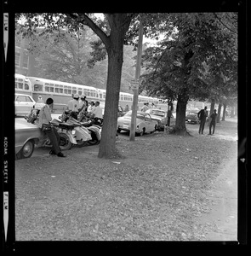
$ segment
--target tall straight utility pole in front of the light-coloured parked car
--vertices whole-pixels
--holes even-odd
[[[135,130],[136,130],[136,116],[138,110],[138,98],[139,98],[139,84],[140,84],[140,63],[141,63],[141,54],[142,54],[142,41],[143,41],[143,24],[142,18],[140,17],[140,28],[139,28],[139,43],[137,50],[137,62],[136,62],[136,73],[135,73],[135,84],[133,87],[134,99],[132,106],[132,117],[131,117],[131,127],[130,127],[130,141],[135,140]]]

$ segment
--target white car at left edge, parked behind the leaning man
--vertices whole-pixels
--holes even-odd
[[[16,116],[25,116],[28,113],[31,113],[31,109],[36,104],[33,98],[26,94],[14,95],[14,108]]]

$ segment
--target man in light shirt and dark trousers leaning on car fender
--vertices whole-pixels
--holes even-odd
[[[54,100],[52,98],[48,98],[46,100],[46,105],[41,108],[39,113],[39,122],[38,126],[42,129],[43,124],[48,125],[49,122],[52,120],[50,109],[53,108]],[[48,131],[44,131],[48,136],[50,142],[52,143],[52,149],[50,150],[49,154],[56,154],[60,157],[65,157],[66,155],[61,152],[60,149],[60,135],[58,131],[51,125],[51,129]]]

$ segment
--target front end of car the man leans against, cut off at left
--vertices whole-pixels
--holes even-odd
[[[15,118],[14,128],[16,159],[31,157],[35,144],[43,138],[43,132],[37,125],[28,123],[24,118]]]

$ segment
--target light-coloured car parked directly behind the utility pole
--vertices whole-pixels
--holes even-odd
[[[132,111],[128,111],[122,117],[117,119],[117,132],[130,131]],[[157,130],[157,121],[151,119],[151,115],[145,112],[137,112],[136,117],[136,134],[143,135],[147,132]]]

